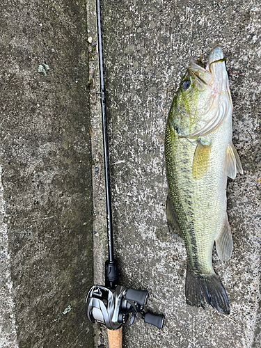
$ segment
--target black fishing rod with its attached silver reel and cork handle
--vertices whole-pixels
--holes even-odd
[[[104,146],[104,178],[106,190],[107,237],[109,259],[105,262],[105,286],[93,285],[86,297],[86,314],[93,323],[99,323],[108,329],[109,347],[122,347],[122,324],[131,315],[133,324],[136,315],[141,316],[148,324],[163,327],[164,315],[144,311],[148,299],[148,291],[126,288],[118,284],[118,262],[113,255],[113,224],[111,213],[111,182],[109,172],[109,147],[106,122],[106,100],[104,87],[104,69],[102,55],[102,25],[100,0],[97,6],[97,35],[100,66],[100,100],[102,106],[102,133]]]

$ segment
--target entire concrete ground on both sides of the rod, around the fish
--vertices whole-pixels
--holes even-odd
[[[84,299],[104,284],[107,257],[95,1],[0,8],[0,347],[93,347]],[[120,281],[148,290],[148,309],[166,316],[161,331],[125,324],[123,347],[260,347],[260,4],[106,0],[102,16]],[[232,259],[214,252],[229,317],[185,303],[161,140],[189,58],[215,45],[231,72],[244,167],[228,183]],[[107,347],[106,331],[95,328],[94,345]]]

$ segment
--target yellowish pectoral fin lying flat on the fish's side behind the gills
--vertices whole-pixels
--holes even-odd
[[[198,145],[194,152],[192,174],[193,177],[200,179],[207,172],[209,167],[210,143],[203,139],[198,139]]]

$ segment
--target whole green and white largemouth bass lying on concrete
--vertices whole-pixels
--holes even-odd
[[[166,217],[187,251],[187,304],[205,309],[209,303],[226,315],[230,304],[212,266],[212,250],[215,243],[221,261],[232,255],[226,187],[228,177],[243,174],[232,143],[232,111],[226,61],[221,47],[215,47],[205,67],[189,60],[173,97],[164,142]]]

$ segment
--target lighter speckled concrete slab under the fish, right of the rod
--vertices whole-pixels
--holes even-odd
[[[123,347],[260,347],[260,3],[106,0],[102,16],[120,280],[148,290],[148,308],[166,316],[161,331],[141,319],[126,324]],[[219,262],[214,252],[229,317],[185,302],[186,253],[166,225],[161,140],[189,58],[216,45],[231,72],[233,142],[244,168],[244,175],[228,182],[232,258]],[[104,235],[95,238],[102,244]],[[102,347],[102,335],[95,347]]]

